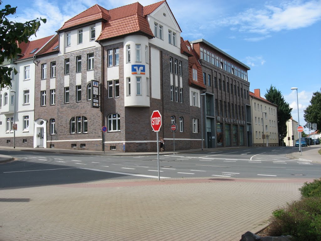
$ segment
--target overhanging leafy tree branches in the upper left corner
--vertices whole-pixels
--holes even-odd
[[[2,1],[0,0],[0,5]],[[12,71],[16,75],[18,72],[13,67],[4,67],[4,61],[11,61],[17,58],[18,54],[21,54],[21,49],[18,48],[17,43],[27,43],[32,35],[36,36],[36,32],[40,27],[40,21],[46,23],[46,19],[37,18],[29,22],[12,22],[7,19],[10,14],[16,13],[17,7],[11,7],[11,5],[5,5],[4,9],[0,10],[0,49],[2,50],[0,55],[0,89],[5,86],[11,86],[12,77],[10,76]]]

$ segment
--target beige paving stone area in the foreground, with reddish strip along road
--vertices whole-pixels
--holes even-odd
[[[312,179],[104,180],[0,189],[1,241],[239,241]]]

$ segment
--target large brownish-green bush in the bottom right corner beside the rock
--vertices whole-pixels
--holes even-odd
[[[321,241],[321,198],[310,197],[274,210],[270,236],[291,235],[296,240]]]

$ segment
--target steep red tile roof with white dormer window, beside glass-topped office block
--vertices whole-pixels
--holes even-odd
[[[188,83],[189,83],[189,85],[195,85],[197,87],[201,87],[202,89],[206,89],[206,86],[204,85],[204,82],[203,82],[202,66],[197,60],[197,57],[196,57],[197,54],[196,54],[195,50],[192,49],[192,46],[188,40],[186,40],[184,42],[185,42],[185,46],[186,45],[189,46],[190,50],[188,50],[188,48],[186,47],[187,51],[189,51],[191,53],[191,57],[188,58],[188,73],[189,73]],[[192,69],[197,70],[197,81],[193,80],[193,70]]]

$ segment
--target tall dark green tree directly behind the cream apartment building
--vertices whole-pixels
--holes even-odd
[[[289,103],[285,102],[281,91],[277,90],[271,85],[270,89],[266,89],[265,99],[278,106],[278,130],[280,140],[287,136],[287,121],[291,118],[291,111]]]

